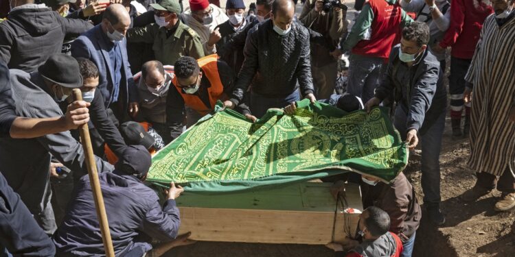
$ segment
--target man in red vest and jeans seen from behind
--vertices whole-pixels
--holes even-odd
[[[391,47],[400,39],[400,27],[411,21],[396,0],[371,0],[363,6],[349,36],[342,38],[334,56],[351,51],[347,92],[364,102],[374,97],[374,89],[384,73]]]

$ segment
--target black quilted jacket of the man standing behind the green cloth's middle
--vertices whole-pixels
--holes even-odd
[[[271,20],[251,29],[231,101],[242,101],[251,83],[253,92],[268,97],[286,97],[299,86],[303,96],[313,93],[310,32],[297,22],[291,26],[285,36],[279,36],[273,30]]]

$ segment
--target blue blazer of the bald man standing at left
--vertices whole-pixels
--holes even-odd
[[[115,42],[115,44],[119,44],[122,50],[122,79],[119,82],[119,100],[124,99],[125,101],[120,103],[124,104],[124,107],[126,107],[128,102],[138,101],[137,87],[133,80],[133,73],[130,72],[126,39],[124,38],[120,42]],[[111,49],[111,46],[109,46],[109,42],[107,42],[100,24],[80,35],[71,44],[71,55],[73,57],[87,58],[97,66],[98,72],[100,73],[98,88],[104,97],[106,108],[111,104],[111,94],[114,90],[113,86],[111,86],[111,90],[109,90],[108,85],[115,84],[113,76],[111,75],[114,66],[111,64],[111,59],[109,58],[109,49]]]

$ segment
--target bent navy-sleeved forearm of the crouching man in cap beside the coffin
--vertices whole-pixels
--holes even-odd
[[[181,225],[179,208],[176,207],[175,200],[166,200],[162,209],[158,201],[152,203],[141,230],[159,241],[172,241],[176,238]]]

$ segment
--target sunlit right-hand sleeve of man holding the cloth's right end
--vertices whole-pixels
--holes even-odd
[[[433,96],[436,92],[438,73],[439,66],[431,67],[418,77],[417,82],[415,82],[411,91],[411,101],[406,125],[407,131],[418,131],[420,127],[422,127],[424,117],[429,107],[431,107],[431,101],[433,101]]]

